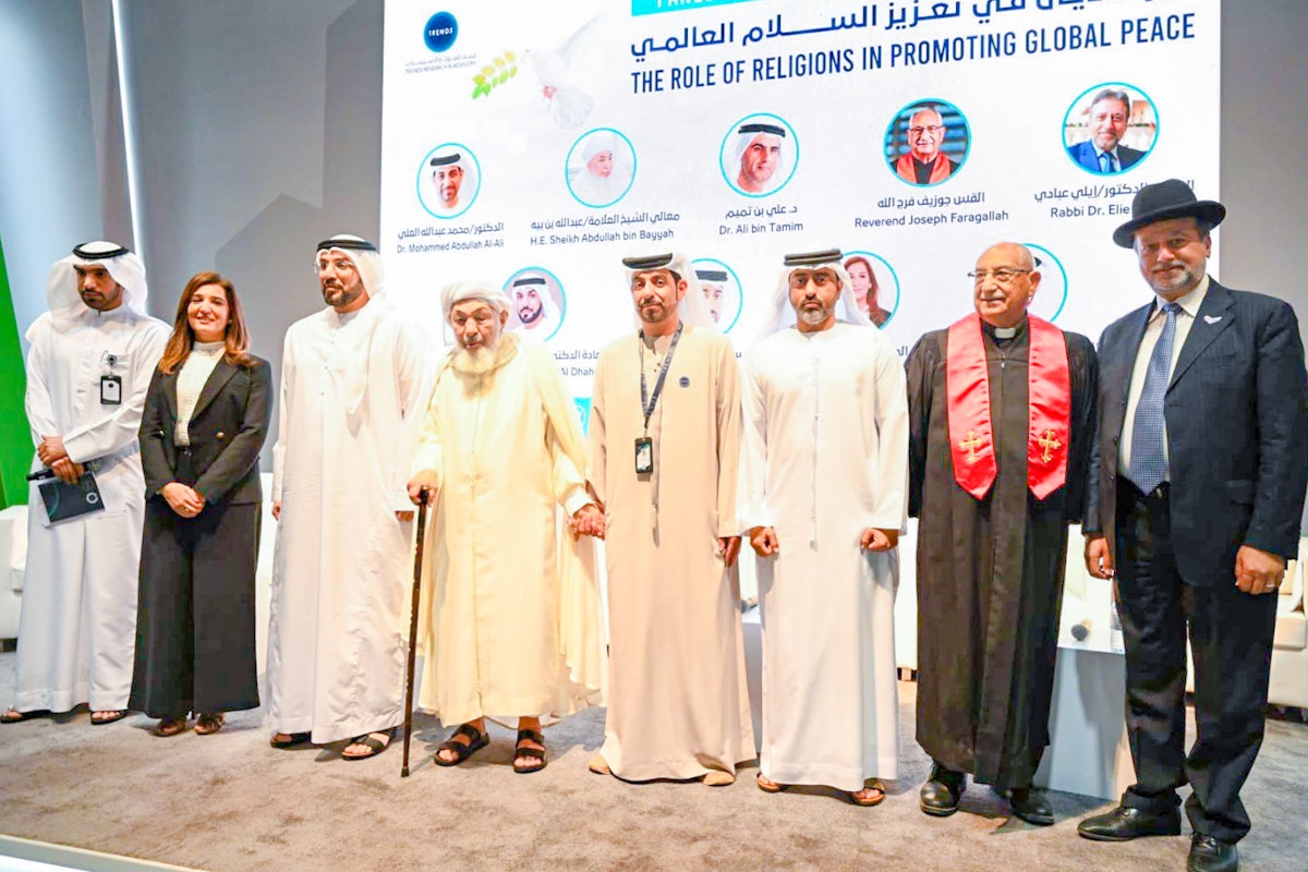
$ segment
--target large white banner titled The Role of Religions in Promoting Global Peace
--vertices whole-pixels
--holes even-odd
[[[1148,297],[1109,238],[1134,192],[1216,196],[1219,25],[1219,0],[387,0],[387,285],[433,336],[446,282],[505,286],[583,417],[634,328],[624,255],[696,260],[743,352],[781,256],[840,247],[904,356],[1012,239],[1033,311],[1097,339]]]

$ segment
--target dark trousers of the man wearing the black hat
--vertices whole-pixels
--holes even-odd
[[[1117,590],[1126,646],[1126,729],[1137,782],[1122,804],[1185,812],[1196,833],[1237,842],[1249,831],[1240,788],[1262,745],[1277,597],[1230,584],[1194,587],[1176,567],[1167,485],[1117,486]],[[1239,543],[1232,544],[1232,550]],[[1198,739],[1185,753],[1185,637],[1194,654]]]

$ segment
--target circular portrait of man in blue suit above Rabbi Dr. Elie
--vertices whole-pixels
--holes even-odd
[[[1071,162],[1096,175],[1125,173],[1154,150],[1158,111],[1148,94],[1108,82],[1087,88],[1063,118],[1063,148]]]

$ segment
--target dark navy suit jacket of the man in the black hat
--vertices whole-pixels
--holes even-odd
[[[1114,563],[1117,446],[1150,299],[1099,340],[1099,463],[1086,532]],[[1296,556],[1308,489],[1308,377],[1294,310],[1215,280],[1163,400],[1172,540],[1181,578],[1228,584],[1240,545]]]

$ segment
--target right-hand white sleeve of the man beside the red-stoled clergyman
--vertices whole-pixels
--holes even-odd
[[[908,529],[908,386],[891,344],[876,344],[876,505],[869,527]]]

